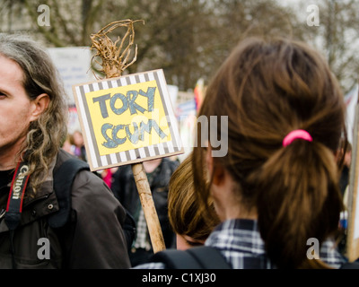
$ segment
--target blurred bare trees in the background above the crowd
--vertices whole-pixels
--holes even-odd
[[[91,46],[90,36],[109,22],[136,23],[137,60],[127,73],[162,68],[168,83],[181,91],[207,81],[241,39],[280,35],[303,39],[322,51],[348,91],[357,79],[354,39],[359,0],[318,0],[320,26],[308,26],[306,6],[300,11],[275,0],[43,0],[50,9],[50,26],[39,26],[37,0],[0,0],[4,31],[19,25],[49,47]],[[311,2],[311,1],[310,1]],[[302,11],[302,13],[300,13]],[[299,12],[299,13],[298,13]],[[5,29],[4,29],[5,28]],[[122,37],[116,30],[112,37]]]

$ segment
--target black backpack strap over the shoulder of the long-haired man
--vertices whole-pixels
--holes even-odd
[[[90,170],[88,163],[71,158],[54,172],[54,190],[59,210],[48,218],[48,224],[52,228],[62,227],[68,221],[71,213],[71,188],[74,177],[81,170]]]

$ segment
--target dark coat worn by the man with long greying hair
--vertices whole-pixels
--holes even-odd
[[[58,229],[48,226],[48,216],[58,210],[52,170],[56,172],[57,167],[71,156],[61,150],[51,175],[36,196],[24,198],[22,221],[13,237],[16,267],[129,268],[126,239],[121,227],[125,210],[103,180],[91,171],[83,170],[74,178],[70,221]],[[0,204],[7,201],[6,188],[9,189],[0,187]],[[39,239],[49,240],[49,259],[39,259],[38,251],[42,247]],[[12,268],[10,250],[9,230],[0,219],[0,268]]]

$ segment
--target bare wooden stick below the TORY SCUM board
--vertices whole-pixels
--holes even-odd
[[[154,207],[151,188],[147,180],[147,175],[144,171],[144,164],[142,162],[132,164],[132,172],[135,177],[138,195],[140,196],[142,208],[144,210],[144,218],[147,222],[148,231],[150,233],[153,252],[156,253],[158,251],[162,251],[166,247],[164,245],[161,224]]]

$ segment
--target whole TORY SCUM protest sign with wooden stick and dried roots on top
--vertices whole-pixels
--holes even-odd
[[[136,22],[144,21],[127,19],[110,22],[97,33],[91,35],[92,49],[96,51],[92,60],[101,65],[99,73],[105,74],[106,78],[111,80],[74,86],[74,94],[78,96],[75,96],[76,103],[81,107],[85,145],[88,149],[86,152],[92,170],[132,163],[131,169],[155,253],[166,247],[142,161],[177,154],[180,152],[180,138],[176,133],[176,120],[173,117],[163,71],[156,70],[121,77],[127,67],[136,62],[137,45],[134,47],[134,23]],[[113,41],[109,38],[109,34],[118,28],[124,28],[126,33],[122,38],[118,36]],[[135,48],[134,54],[131,53],[131,48]],[[96,57],[99,57],[101,62],[97,61]],[[152,83],[146,85],[148,82]],[[97,93],[96,91],[99,90],[101,92]],[[103,93],[102,90],[111,91]],[[92,94],[86,97],[90,93]],[[137,97],[140,99],[144,97],[142,99],[144,102],[137,102]],[[92,106],[92,103],[98,104],[98,107]],[[141,114],[144,116],[141,122],[136,122],[139,120],[136,117],[138,111],[140,113],[138,116]],[[118,118],[118,116],[121,117]],[[156,119],[157,122],[155,122]],[[94,124],[97,123],[97,120],[100,121],[101,134],[98,130],[95,133],[94,130],[96,128]],[[133,130],[131,130],[131,126]],[[153,128],[157,133],[154,135],[154,139],[152,139]],[[124,129],[126,135],[123,134]],[[118,133],[122,133],[122,135],[118,135]],[[146,137],[145,133],[149,135]],[[127,140],[132,143],[132,147],[131,143],[127,147],[123,146]],[[135,146],[139,141],[142,143]],[[100,149],[99,144],[102,144],[105,149],[102,147]],[[127,150],[128,147],[129,150]],[[117,150],[109,152],[110,149]]]

